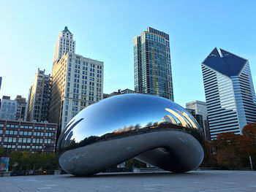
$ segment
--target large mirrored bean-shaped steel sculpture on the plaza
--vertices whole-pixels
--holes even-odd
[[[196,120],[159,96],[126,94],[78,113],[61,131],[59,164],[77,176],[102,172],[136,158],[170,172],[188,172],[203,161]]]

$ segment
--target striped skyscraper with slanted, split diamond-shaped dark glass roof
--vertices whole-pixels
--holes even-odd
[[[256,121],[256,97],[249,61],[214,48],[202,63],[211,139],[232,131],[242,134]]]

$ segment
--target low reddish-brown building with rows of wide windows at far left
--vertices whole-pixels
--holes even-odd
[[[55,152],[57,124],[0,120],[0,147],[8,150]]]

